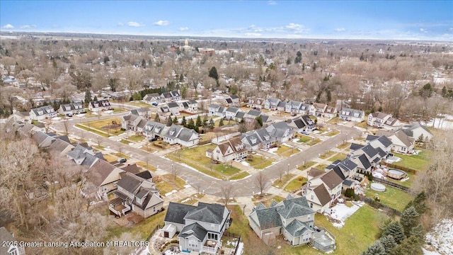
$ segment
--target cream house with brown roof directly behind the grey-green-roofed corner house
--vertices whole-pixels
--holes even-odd
[[[306,183],[306,200],[311,209],[323,213],[340,197],[343,179],[335,171],[309,179]]]

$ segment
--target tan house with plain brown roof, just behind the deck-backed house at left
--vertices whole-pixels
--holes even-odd
[[[120,174],[124,170],[119,169],[105,160],[98,160],[86,172],[86,179],[96,187],[98,197],[103,193],[108,193],[117,188],[117,182],[120,181]]]

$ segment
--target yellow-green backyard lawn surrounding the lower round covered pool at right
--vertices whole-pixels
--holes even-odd
[[[413,199],[413,195],[406,193],[397,188],[386,186],[386,191],[377,192],[371,188],[367,189],[365,196],[367,198],[374,198],[375,194],[379,196],[381,203],[396,210],[402,211],[404,207]]]

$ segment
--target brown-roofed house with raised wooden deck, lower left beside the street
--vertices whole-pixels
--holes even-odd
[[[144,171],[145,173],[149,171]],[[164,208],[164,200],[156,189],[156,184],[142,178],[139,174],[125,172],[117,182],[115,198],[110,200],[108,208],[115,215],[122,216],[129,210],[142,217],[150,217]]]

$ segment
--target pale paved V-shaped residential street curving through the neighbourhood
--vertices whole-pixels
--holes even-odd
[[[105,118],[120,117],[125,114],[127,113],[103,115],[100,118],[95,117],[90,118],[89,120],[91,121],[96,121],[98,119],[103,120]],[[248,176],[248,178],[238,181],[223,181],[219,179],[214,179],[211,176],[202,174],[199,171],[196,171],[195,169],[191,169],[190,167],[172,162],[171,160],[161,157],[157,154],[145,152],[142,149],[130,147],[122,144],[121,142],[117,142],[117,140],[119,140],[118,137],[98,138],[98,135],[74,127],[76,123],[79,122],[84,123],[86,121],[88,121],[88,119],[68,120],[70,126],[68,130],[69,134],[74,133],[74,135],[76,136],[84,137],[85,140],[91,139],[93,142],[95,141],[97,142],[98,139],[100,139],[101,145],[103,147],[110,148],[115,151],[120,151],[127,155],[132,154],[132,158],[139,159],[142,162],[149,162],[150,164],[157,166],[157,168],[160,170],[168,171],[168,173],[171,173],[171,167],[173,164],[173,167],[175,167],[176,170],[178,171],[178,176],[180,176],[180,178],[184,179],[187,183],[189,183],[190,186],[193,186],[195,190],[200,190],[204,191],[207,194],[215,195],[219,193],[220,187],[226,185],[227,183],[233,183],[236,196],[252,196],[253,193],[259,192],[259,189],[256,187],[256,184],[254,183],[254,180],[256,179],[255,176],[258,174],[258,171],[253,175]],[[336,126],[328,124],[324,125],[327,128],[335,127],[335,129],[340,130],[340,134],[334,137],[330,137],[328,138],[328,140],[320,142],[319,144],[314,145],[302,152],[293,154],[292,157],[283,159],[282,161],[277,162],[272,166],[269,166],[267,169],[263,169],[262,170],[263,174],[265,174],[265,176],[268,176],[269,180],[276,179],[277,176],[279,175],[277,169],[284,168],[285,171],[287,171],[287,169],[294,169],[297,166],[302,165],[303,162],[309,162],[312,159],[316,159],[317,157],[319,157],[319,154],[322,154],[323,152],[326,152],[329,149],[333,149],[334,147],[336,147],[336,145],[340,145],[341,143],[343,143],[344,140],[350,140],[352,137],[358,137],[361,134],[361,132],[356,128],[350,128],[341,125]],[[64,132],[63,122],[52,125],[52,128],[58,130],[59,132]],[[270,182],[267,183],[267,188],[269,186]]]

